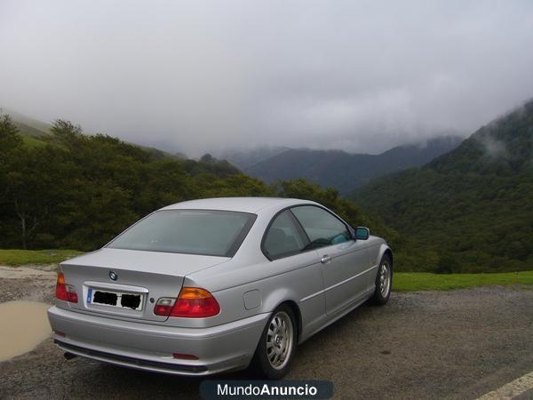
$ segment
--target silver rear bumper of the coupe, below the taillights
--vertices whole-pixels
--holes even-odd
[[[209,375],[250,364],[269,314],[211,328],[178,328],[92,316],[52,307],[48,319],[64,351],[152,372]],[[65,334],[65,336],[62,336]],[[197,356],[176,359],[173,353]]]

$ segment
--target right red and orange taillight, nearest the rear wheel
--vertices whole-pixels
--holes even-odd
[[[219,303],[205,289],[184,287],[178,299],[163,297],[155,303],[156,316],[179,316],[182,318],[205,318],[220,312]]]

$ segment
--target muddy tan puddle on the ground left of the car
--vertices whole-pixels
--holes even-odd
[[[0,303],[0,361],[27,353],[50,336],[48,308],[36,301]]]

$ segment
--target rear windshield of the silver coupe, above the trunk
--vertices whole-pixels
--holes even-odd
[[[107,247],[233,257],[255,219],[247,212],[163,210],[140,220]]]

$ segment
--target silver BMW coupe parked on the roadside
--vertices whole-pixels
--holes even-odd
[[[298,343],[361,305],[385,304],[393,253],[311,201],[228,197],[172,204],[60,264],[53,339],[153,372],[290,369]]]

